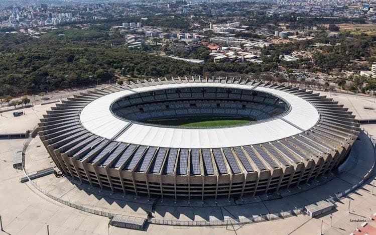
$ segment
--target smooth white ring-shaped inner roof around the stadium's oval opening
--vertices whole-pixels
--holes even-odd
[[[80,114],[81,124],[91,133],[120,142],[137,145],[167,148],[225,148],[254,145],[287,138],[311,129],[319,120],[319,113],[308,101],[277,89],[256,87],[279,96],[290,104],[291,110],[281,118],[250,124],[247,126],[191,129],[165,126],[152,126],[130,123],[114,116],[110,111],[112,102],[122,96],[165,88],[182,87],[232,87],[252,89],[252,85],[222,83],[181,83],[163,84],[113,92],[95,99],[83,108]],[[128,128],[121,135],[124,128]]]

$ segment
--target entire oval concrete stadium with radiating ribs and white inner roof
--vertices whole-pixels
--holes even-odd
[[[39,136],[62,174],[147,197],[278,193],[335,171],[354,115],[298,87],[172,78],[92,89],[47,111]]]

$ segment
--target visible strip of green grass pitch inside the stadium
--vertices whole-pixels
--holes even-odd
[[[188,127],[188,128],[211,128],[211,127],[228,127],[241,124],[248,124],[255,122],[254,120],[245,118],[185,118],[178,120],[152,120],[148,123],[158,124],[158,125],[168,125],[168,126],[178,126],[178,127]]]

